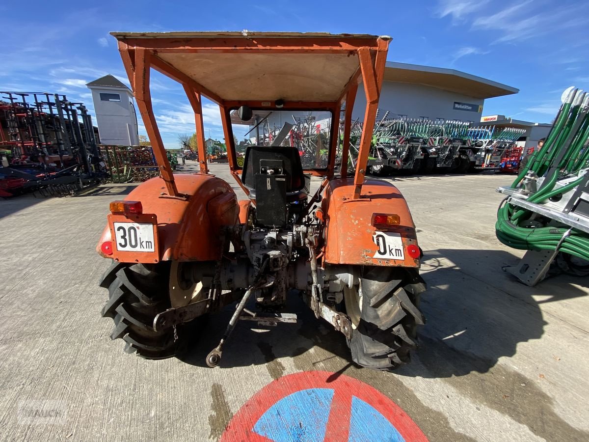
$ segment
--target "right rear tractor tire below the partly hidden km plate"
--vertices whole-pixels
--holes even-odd
[[[419,311],[424,291],[425,282],[414,269],[363,268],[359,286],[343,293],[352,320],[353,361],[385,371],[409,362],[409,351],[418,347],[417,326],[425,323]]]

